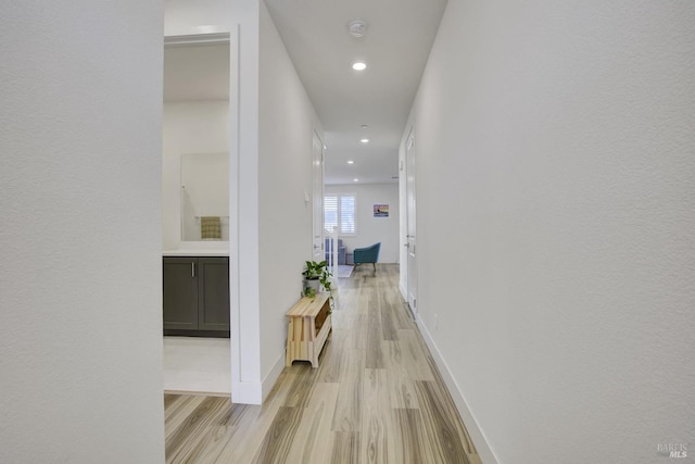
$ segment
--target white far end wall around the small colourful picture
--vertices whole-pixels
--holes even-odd
[[[368,247],[380,241],[379,262],[399,262],[401,205],[397,184],[328,185],[325,192],[355,193],[357,233],[354,236],[340,236],[348,253],[352,253],[355,248]],[[374,217],[375,204],[388,204],[389,217]]]

